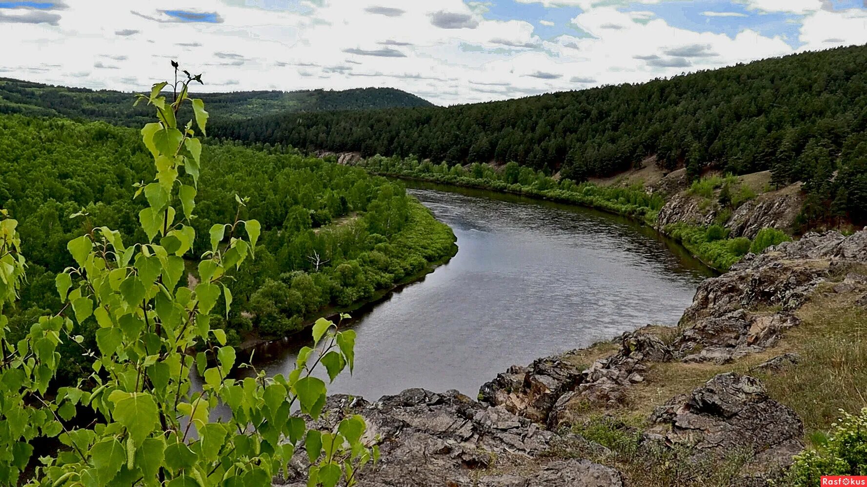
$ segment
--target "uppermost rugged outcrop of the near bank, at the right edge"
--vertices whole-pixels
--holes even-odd
[[[707,279],[681,318],[676,355],[688,362],[726,363],[772,347],[780,332],[799,324],[793,312],[816,287],[852,266],[867,264],[867,232],[807,234],[744,260]],[[867,284],[848,272],[838,292]],[[867,286],[865,286],[867,288]]]

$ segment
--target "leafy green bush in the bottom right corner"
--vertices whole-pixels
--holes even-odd
[[[867,407],[843,412],[825,441],[796,456],[785,485],[818,487],[823,475],[867,475]]]

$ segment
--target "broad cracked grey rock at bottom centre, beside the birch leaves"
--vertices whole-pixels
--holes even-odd
[[[380,463],[363,469],[361,487],[622,487],[620,473],[583,459],[544,455],[555,433],[504,407],[487,407],[458,393],[407,389],[375,403],[346,395],[329,397],[326,413],[313,422],[335,427],[348,414],[361,414],[380,437]],[[306,455],[293,459],[285,485],[306,485]]]

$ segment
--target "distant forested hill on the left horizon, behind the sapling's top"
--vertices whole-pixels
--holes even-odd
[[[171,93],[168,93],[171,97]],[[285,112],[367,110],[433,106],[412,93],[394,88],[355,88],[343,91],[254,91],[197,93],[218,119],[248,119]],[[42,85],[0,78],[0,113],[100,120],[114,125],[140,126],[150,121],[150,110],[131,108],[133,94]]]

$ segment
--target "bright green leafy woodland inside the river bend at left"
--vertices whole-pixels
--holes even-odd
[[[451,229],[400,184],[362,169],[234,143],[205,145],[201,157],[192,253],[208,247],[214,222],[261,223],[256,259],[228,281],[232,311],[214,317],[232,343],[286,336],[329,305],[368,300],[455,252]],[[152,164],[139,131],[0,115],[0,208],[19,221],[29,263],[12,330],[60,309],[54,276],[74,265],[76,235],[106,225],[145,240],[139,214],[151,195],[137,192]]]

